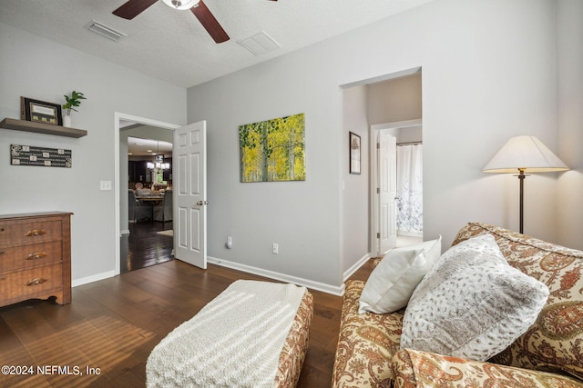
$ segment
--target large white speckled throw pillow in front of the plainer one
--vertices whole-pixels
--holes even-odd
[[[537,319],[548,288],[506,263],[491,234],[441,256],[415,289],[401,348],[486,361]]]

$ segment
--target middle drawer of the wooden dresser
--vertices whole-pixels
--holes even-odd
[[[63,260],[62,250],[63,244],[60,241],[0,247],[0,273],[38,265],[61,263]]]

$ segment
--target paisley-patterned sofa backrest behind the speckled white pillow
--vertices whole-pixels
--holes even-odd
[[[482,223],[466,224],[452,245],[481,234],[493,235],[508,264],[547,284],[550,291],[537,322],[488,361],[560,369],[583,381],[583,251]]]

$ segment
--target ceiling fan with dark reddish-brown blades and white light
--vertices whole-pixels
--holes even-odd
[[[113,15],[131,20],[142,12],[146,11],[150,5],[154,5],[158,0],[129,0],[113,12]],[[200,24],[207,30],[210,37],[216,43],[228,41],[229,35],[222,29],[219,22],[210,13],[209,8],[202,0],[162,0],[172,8],[184,10],[189,9],[199,19]],[[277,0],[271,0],[277,1]]]

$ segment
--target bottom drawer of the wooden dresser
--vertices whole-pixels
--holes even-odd
[[[27,299],[63,287],[63,265],[53,264],[20,272],[0,274],[0,295],[6,300],[16,296]]]

